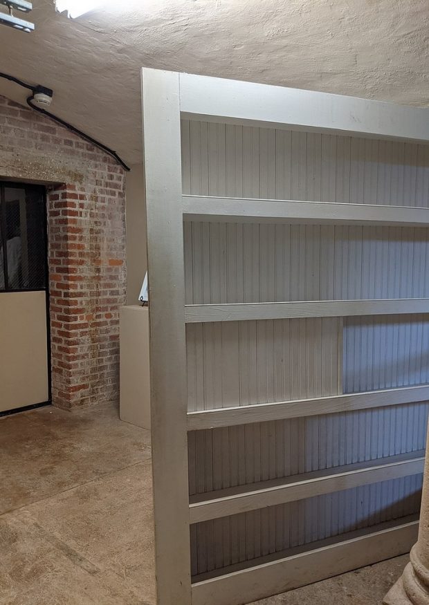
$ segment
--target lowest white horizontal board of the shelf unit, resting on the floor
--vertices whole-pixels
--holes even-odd
[[[293,548],[284,557],[277,553],[230,566],[223,575],[199,575],[192,579],[192,605],[244,605],[403,555],[417,541],[418,529],[417,516],[408,516]]]

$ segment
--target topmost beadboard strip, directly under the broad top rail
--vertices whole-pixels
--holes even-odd
[[[429,207],[429,146],[182,121],[183,193]]]

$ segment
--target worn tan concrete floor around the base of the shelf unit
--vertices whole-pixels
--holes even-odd
[[[0,605],[155,603],[148,431],[46,407],[1,418],[0,452]],[[407,561],[254,605],[378,605]]]

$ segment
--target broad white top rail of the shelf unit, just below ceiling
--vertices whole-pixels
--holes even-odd
[[[190,119],[429,140],[426,108],[188,73],[180,75],[180,99]]]

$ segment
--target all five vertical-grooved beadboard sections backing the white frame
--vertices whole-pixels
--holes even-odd
[[[429,207],[429,147],[182,122],[183,193]],[[185,223],[188,304],[429,297],[429,230]],[[192,411],[428,382],[424,316],[188,324]],[[190,494],[412,452],[429,404],[189,434]],[[194,575],[419,510],[421,477],[192,525]],[[309,547],[310,548],[310,547]]]

